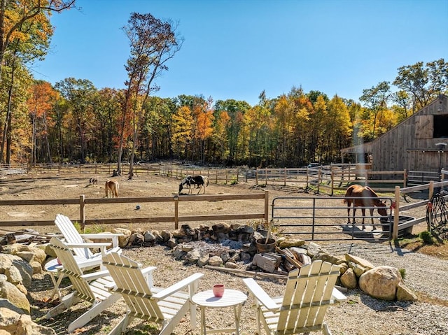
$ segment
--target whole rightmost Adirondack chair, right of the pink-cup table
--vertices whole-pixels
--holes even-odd
[[[260,324],[266,334],[300,334],[321,330],[331,335],[323,317],[328,306],[344,301],[344,294],[335,289],[339,266],[315,261],[288,274],[283,296],[271,298],[253,280],[244,278],[248,291],[255,297],[258,334]]]

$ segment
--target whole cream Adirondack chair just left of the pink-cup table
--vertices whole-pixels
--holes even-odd
[[[120,293],[127,304],[125,318],[109,335],[124,332],[134,318],[162,324],[160,335],[169,335],[174,332],[174,327],[188,310],[191,325],[195,329],[196,308],[191,302],[191,297],[197,291],[203,273],[195,273],[162,289],[153,286],[152,272],[155,266],[142,269],[139,263],[116,252],[103,257],[103,264],[115,282],[115,285],[109,286],[111,292]]]

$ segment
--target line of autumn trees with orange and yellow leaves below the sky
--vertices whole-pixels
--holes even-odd
[[[51,85],[29,70],[45,57],[55,11],[75,1],[0,0],[0,159],[2,163],[182,159],[200,164],[290,167],[340,162],[342,148],[384,134],[447,94],[444,59],[402,66],[392,85],[363,90],[360,103],[292,87],[258,104],[179,95],[157,97],[158,76],[181,49],[177,23],[132,13],[124,89],[88,79]]]

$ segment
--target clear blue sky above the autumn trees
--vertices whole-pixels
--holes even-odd
[[[258,103],[292,87],[358,101],[400,66],[448,60],[448,0],[77,0],[55,27],[36,79],[88,79],[123,88],[132,12],[179,22],[181,50],[157,80],[159,97]]]

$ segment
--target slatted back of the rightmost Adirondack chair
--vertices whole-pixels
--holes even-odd
[[[279,334],[320,327],[337,276],[339,266],[322,261],[290,271],[277,324]]]

